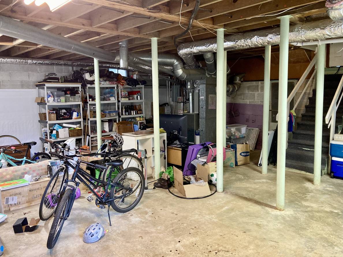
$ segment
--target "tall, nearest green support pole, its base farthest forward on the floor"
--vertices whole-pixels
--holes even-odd
[[[289,15],[280,17],[279,120],[277,122],[276,208],[285,209]]]

